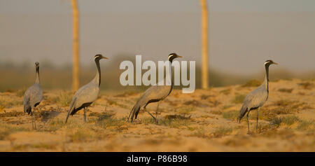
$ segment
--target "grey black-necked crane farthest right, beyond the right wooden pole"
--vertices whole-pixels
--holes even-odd
[[[258,112],[260,107],[265,104],[265,102],[268,99],[269,95],[269,66],[270,64],[277,64],[276,62],[272,62],[272,60],[267,60],[265,62],[265,70],[266,70],[266,76],[265,81],[260,85],[258,88],[250,92],[245,100],[243,105],[241,106],[241,110],[239,110],[239,123],[241,123],[241,118],[245,116],[245,113],[247,113],[247,127],[248,127],[248,134],[249,134],[249,122],[248,122],[248,114],[251,110],[258,109],[257,110],[257,124],[256,124],[256,130],[258,130]]]

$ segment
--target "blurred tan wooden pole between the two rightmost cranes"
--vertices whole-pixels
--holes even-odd
[[[200,0],[202,8],[202,89],[207,89],[209,85],[209,17],[207,0]]]

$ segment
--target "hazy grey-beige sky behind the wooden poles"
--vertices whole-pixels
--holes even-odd
[[[210,65],[253,74],[267,59],[315,70],[314,0],[212,0]],[[102,53],[200,62],[199,0],[89,0],[80,8],[81,63]],[[71,62],[69,0],[0,0],[0,60]]]

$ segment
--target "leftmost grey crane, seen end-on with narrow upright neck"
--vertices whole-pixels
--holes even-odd
[[[43,99],[43,90],[41,90],[41,85],[39,82],[39,63],[35,62],[35,69],[36,69],[36,78],[35,83],[31,87],[29,87],[24,94],[23,97],[23,106],[24,106],[24,113],[27,115],[31,114],[31,127],[36,130],[36,123],[34,118],[34,112],[36,106],[41,103]]]

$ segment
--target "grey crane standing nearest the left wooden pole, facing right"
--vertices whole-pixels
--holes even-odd
[[[87,107],[94,102],[99,95],[99,86],[101,85],[101,68],[99,67],[99,60],[108,59],[98,54],[95,55],[94,61],[97,66],[97,74],[94,79],[78,89],[73,95],[72,102],[70,104],[70,109],[66,116],[66,121],[69,118],[69,115],[73,116],[80,109],[84,109],[84,122],[86,122],[86,111]],[[66,122],[65,122],[66,123]]]

